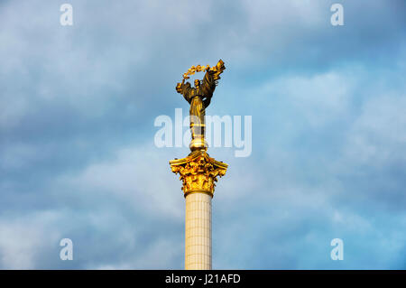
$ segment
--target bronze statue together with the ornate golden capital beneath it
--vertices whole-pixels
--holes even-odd
[[[192,141],[189,144],[191,153],[186,158],[170,161],[171,170],[180,175],[183,181],[182,190],[186,197],[190,193],[207,193],[213,197],[217,177],[226,175],[227,164],[211,158],[208,153],[208,144],[205,141],[205,109],[210,104],[213,92],[220,79],[220,74],[226,70],[224,62],[220,59],[216,66],[192,66],[183,74],[183,80],[176,85],[178,93],[190,104],[190,131]],[[189,75],[195,72],[206,71],[202,81],[196,79],[195,87],[189,82]]]

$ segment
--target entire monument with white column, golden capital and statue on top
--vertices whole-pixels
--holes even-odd
[[[176,85],[178,93],[189,102],[191,153],[186,158],[170,161],[171,170],[180,175],[186,201],[185,218],[185,269],[211,269],[211,200],[217,177],[226,175],[227,164],[208,156],[205,141],[205,109],[210,104],[213,92],[226,70],[223,60],[215,67],[192,66]],[[196,79],[191,88],[189,75],[206,71],[202,81]]]

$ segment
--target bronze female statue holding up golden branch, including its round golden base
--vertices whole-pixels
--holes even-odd
[[[205,109],[210,104],[220,74],[224,70],[226,70],[226,67],[221,59],[218,60],[216,66],[211,68],[209,65],[192,66],[188,72],[183,74],[182,82],[176,85],[176,91],[182,94],[190,104],[189,116],[192,141],[189,147],[191,151],[208,147],[205,142]],[[202,81],[196,79],[194,88],[190,86],[189,82],[185,83],[185,79],[189,79],[189,75],[200,71],[206,71],[205,77]]]

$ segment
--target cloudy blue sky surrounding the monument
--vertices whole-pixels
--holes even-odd
[[[154,120],[220,58],[206,113],[252,116],[252,153],[208,150],[213,268],[406,269],[402,0],[1,1],[0,268],[183,269],[189,148]]]

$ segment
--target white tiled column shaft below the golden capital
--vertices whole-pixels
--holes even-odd
[[[211,195],[186,196],[185,269],[211,269]]]

